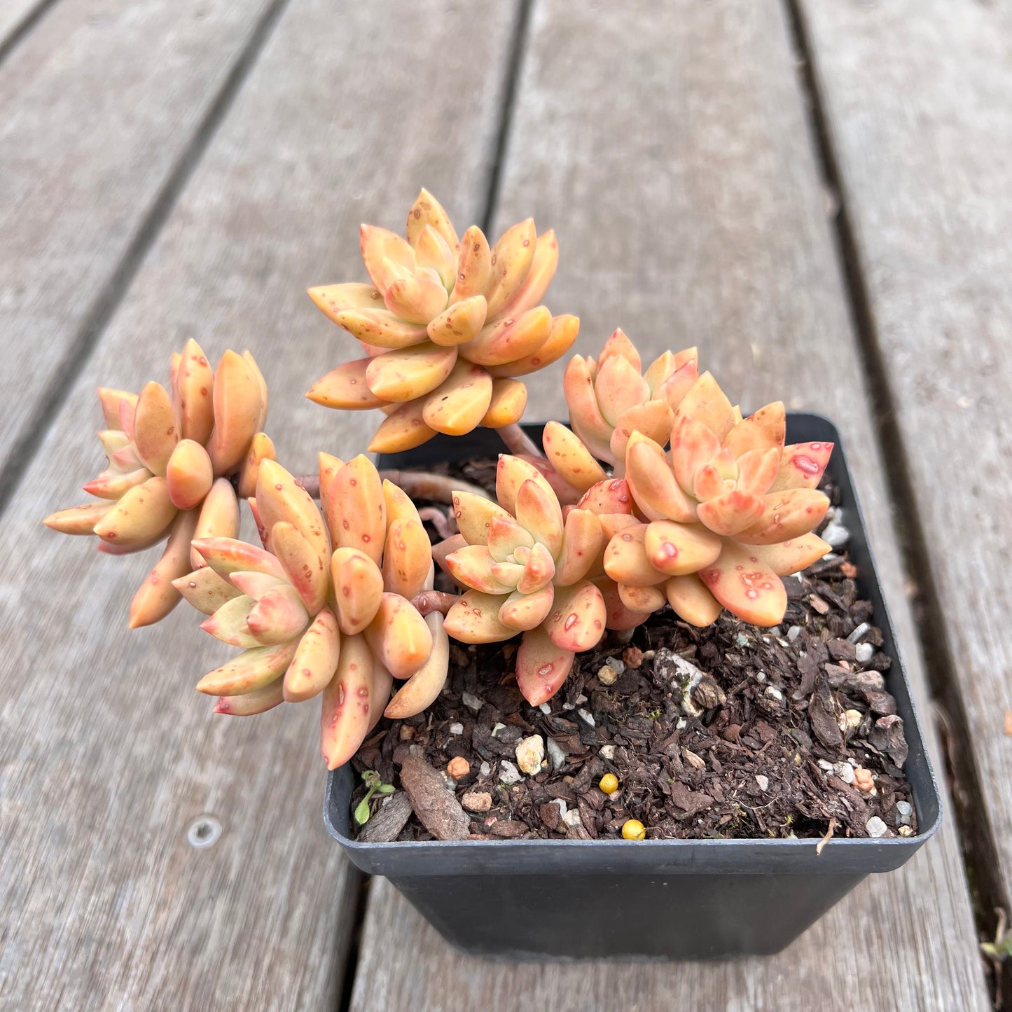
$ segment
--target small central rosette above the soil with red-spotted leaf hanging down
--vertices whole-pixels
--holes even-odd
[[[523,632],[517,685],[537,705],[565,681],[574,656],[604,635],[599,571],[603,532],[588,509],[563,518],[559,499],[532,465],[502,455],[498,505],[454,493],[463,543],[444,560],[466,589],[446,614],[445,629],[462,643],[494,643]]]

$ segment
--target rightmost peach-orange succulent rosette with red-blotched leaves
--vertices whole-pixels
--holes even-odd
[[[779,578],[830,551],[812,531],[829,506],[816,486],[833,450],[785,446],[784,433],[780,402],[742,420],[704,372],[675,408],[670,454],[629,437],[625,481],[639,516],[610,518],[604,570],[630,610],[653,610],[663,587],[694,625],[722,606],[757,625],[780,621]]]

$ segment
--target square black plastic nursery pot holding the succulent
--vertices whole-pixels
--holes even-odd
[[[539,438],[540,426],[528,427]],[[791,414],[788,442],[836,443],[829,473],[851,531],[862,596],[874,605],[910,754],[905,772],[919,833],[832,840],[497,840],[356,843],[350,766],[327,779],[324,821],[362,871],[386,875],[451,944],[508,958],[721,959],[777,952],[872,871],[905,864],[938,829],[941,798],[882,600],[867,533],[836,427]],[[494,432],[437,437],[382,458],[419,468],[502,451]]]

